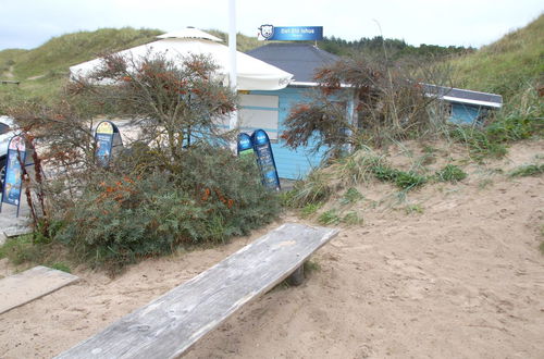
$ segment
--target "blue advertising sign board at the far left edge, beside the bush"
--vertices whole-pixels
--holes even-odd
[[[23,187],[23,168],[26,159],[26,146],[22,136],[15,136],[8,145],[8,159],[5,163],[5,177],[2,190],[2,202],[18,206],[21,189]]]

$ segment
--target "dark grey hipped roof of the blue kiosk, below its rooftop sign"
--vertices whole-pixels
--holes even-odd
[[[339,60],[337,55],[313,45],[296,42],[267,44],[248,51],[247,54],[292,73],[294,75],[292,85],[314,84],[313,75],[318,69]]]

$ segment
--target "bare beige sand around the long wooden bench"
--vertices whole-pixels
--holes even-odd
[[[364,223],[341,226],[301,286],[245,306],[185,357],[543,358],[544,177],[505,175],[543,154],[543,141],[516,145],[507,159],[466,165],[461,183],[396,203],[388,185],[360,187],[379,206],[349,209]],[[410,205],[421,213],[407,213]],[[282,221],[302,222],[287,214],[226,246],[147,260],[115,278],[75,269],[81,282],[0,315],[0,357],[52,357]],[[0,275],[11,272],[2,260]]]

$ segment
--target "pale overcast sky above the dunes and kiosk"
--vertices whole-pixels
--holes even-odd
[[[101,27],[227,32],[228,0],[0,0],[0,50],[32,49],[51,37]],[[480,47],[527,25],[543,0],[237,0],[237,29],[262,24],[323,26],[324,36],[405,39],[411,45]]]

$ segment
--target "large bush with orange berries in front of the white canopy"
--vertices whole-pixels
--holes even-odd
[[[233,156],[225,146],[231,134],[215,128],[213,119],[233,111],[236,101],[210,75],[215,64],[202,57],[174,62],[151,55],[128,73],[129,60],[104,61],[87,81],[71,84],[58,103],[10,109],[30,147],[46,144],[30,180],[38,195],[30,206],[36,233],[11,251],[16,260],[34,261],[28,256],[37,250],[60,246],[76,262],[116,272],[181,247],[225,243],[276,216],[279,196],[262,186],[255,159]],[[99,86],[97,78],[123,81]],[[107,164],[97,158],[88,120],[104,106],[116,116],[147,119],[137,123],[138,139]],[[55,163],[47,182],[40,181],[41,160]]]

